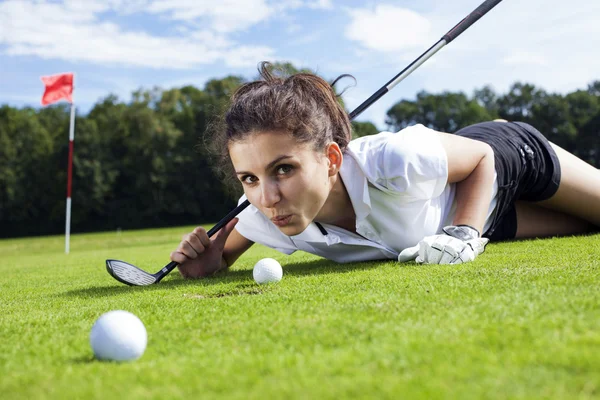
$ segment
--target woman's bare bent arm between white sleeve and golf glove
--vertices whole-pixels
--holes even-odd
[[[470,225],[483,234],[492,200],[494,151],[487,143],[439,133],[448,157],[448,183],[456,183],[454,225]]]

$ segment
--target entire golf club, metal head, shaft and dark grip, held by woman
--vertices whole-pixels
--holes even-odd
[[[479,18],[484,16],[488,11],[494,8],[498,3],[502,0],[486,0],[479,7],[477,7],[473,12],[467,15],[462,21],[456,24],[448,33],[446,33],[440,40],[438,40],[433,46],[431,46],[427,51],[421,54],[415,61],[409,64],[405,69],[403,69],[400,73],[394,76],[388,83],[382,86],[379,90],[371,95],[367,100],[365,100],[362,104],[360,104],[354,111],[352,111],[348,116],[351,120],[360,115],[364,110],[369,108],[373,103],[379,100],[384,94],[389,92],[394,86],[400,83],[404,78],[410,75],[414,70],[416,70],[421,64],[427,61],[431,56],[437,53],[442,47],[456,39],[461,33],[467,30],[471,25],[473,25]],[[244,201],[240,205],[238,205],[235,209],[233,209],[229,214],[227,214],[223,219],[221,219],[214,227],[212,227],[208,231],[208,237],[212,237],[215,233],[219,231],[223,226],[225,226],[229,221],[235,218],[240,212],[242,212],[246,207],[250,205],[248,200]],[[165,265],[160,271],[155,274],[150,274],[146,271],[143,271],[136,267],[135,265],[129,264],[125,261],[120,260],[106,260],[106,270],[108,273],[126,285],[131,286],[146,286],[154,283],[158,283],[167,276],[175,267],[177,267],[177,263],[171,261],[167,265]]]

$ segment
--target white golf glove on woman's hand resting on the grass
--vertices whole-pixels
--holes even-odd
[[[445,235],[427,236],[416,246],[402,250],[398,261],[419,264],[462,264],[483,253],[489,239],[480,238],[468,225],[446,226]]]

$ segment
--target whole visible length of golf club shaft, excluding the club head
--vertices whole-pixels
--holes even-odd
[[[446,44],[450,43],[454,39],[456,39],[461,33],[467,30],[471,25],[473,25],[479,18],[484,16],[488,11],[494,8],[498,3],[502,0],[486,0],[479,7],[477,7],[473,12],[467,15],[462,21],[460,21],[456,26],[454,26],[448,33],[446,33],[439,41],[437,41],[433,46],[431,46],[426,52],[421,54],[415,61],[413,61],[408,67],[404,68],[400,73],[394,76],[388,83],[382,86],[377,92],[373,93],[371,97],[365,100],[361,105],[359,105],[354,111],[352,111],[348,116],[351,120],[360,115],[363,111],[369,108],[373,103],[379,100],[384,94],[389,92],[394,86],[400,83],[404,78],[410,75],[415,69],[417,69],[421,64],[427,61],[431,56],[437,53],[442,47]],[[223,226],[227,225],[229,221],[235,218],[240,212],[242,212],[246,207],[250,205],[248,200],[245,200],[242,204],[238,205],[235,209],[233,209],[229,214],[227,214],[223,219],[221,219],[214,227],[212,227],[208,231],[208,237],[212,237],[215,233],[219,231]],[[175,267],[177,267],[177,263],[175,261],[171,261],[167,265],[163,267],[157,274],[160,274],[159,280],[162,279],[165,275],[171,272]]]

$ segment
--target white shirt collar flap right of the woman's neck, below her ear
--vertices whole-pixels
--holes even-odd
[[[369,184],[364,171],[357,161],[356,155],[347,148],[344,151],[344,161],[340,168],[340,176],[350,196],[356,220],[361,221],[371,213],[371,197]]]

